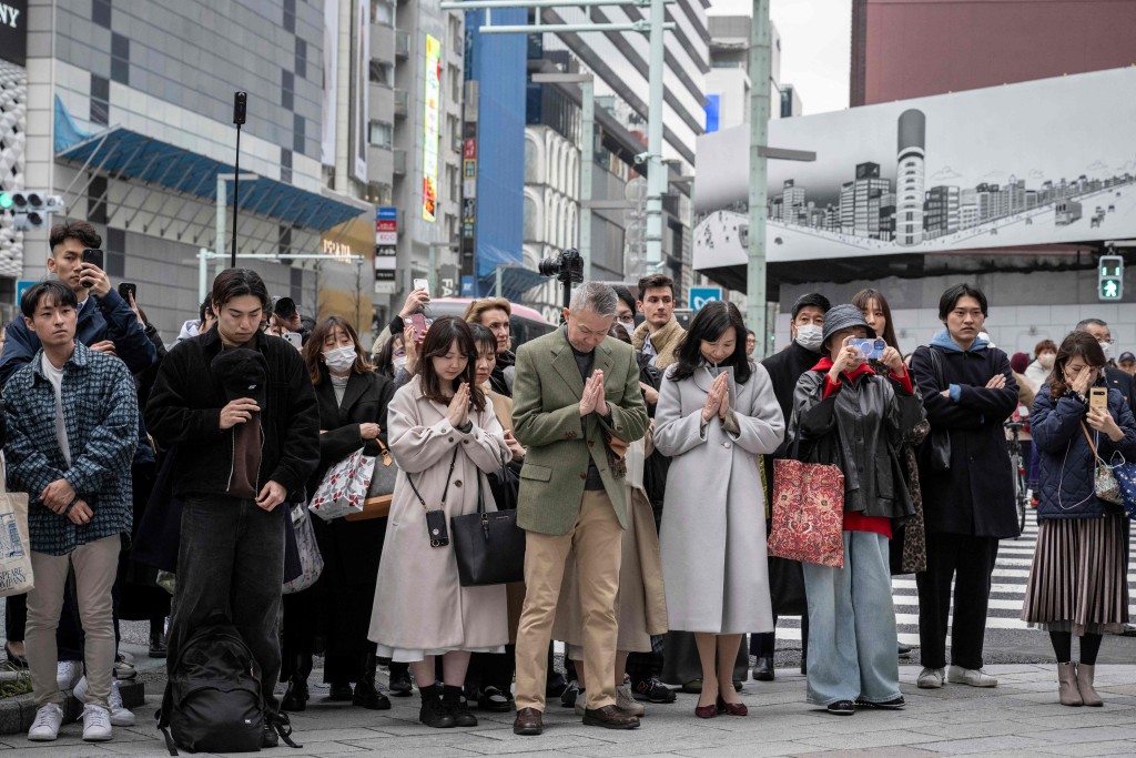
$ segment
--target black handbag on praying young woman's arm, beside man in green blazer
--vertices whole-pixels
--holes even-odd
[[[477,475],[477,513],[450,519],[450,539],[461,586],[521,582],[525,578],[525,531],[516,510],[485,510]]]

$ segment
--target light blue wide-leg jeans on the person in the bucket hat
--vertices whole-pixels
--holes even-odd
[[[844,568],[801,566],[809,597],[809,702],[899,698],[887,538],[845,532]]]

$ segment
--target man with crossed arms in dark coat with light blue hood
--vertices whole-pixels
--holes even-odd
[[[925,690],[944,682],[997,686],[983,670],[983,641],[999,540],[1019,532],[1002,428],[1018,407],[1018,384],[1006,355],[979,336],[986,313],[982,290],[970,284],[949,288],[938,302],[946,328],[911,356],[932,430],[919,451],[927,570],[916,574],[924,666],[917,684]],[[943,444],[950,449],[949,459],[937,460],[932,450]]]

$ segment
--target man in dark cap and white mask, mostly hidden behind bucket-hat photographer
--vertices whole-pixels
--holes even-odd
[[[828,298],[817,292],[802,294],[793,303],[788,333],[792,341],[788,345],[765,360],[761,365],[769,372],[774,385],[777,405],[780,406],[785,423],[793,417],[793,391],[801,375],[811,369],[820,360],[822,345],[821,334],[825,326],[825,314],[830,303]],[[785,439],[788,439],[786,431]],[[785,442],[771,456],[762,456],[766,476],[766,499],[772,502],[774,460],[786,455]],[[768,511],[767,511],[768,513]],[[768,526],[767,526],[768,531]],[[778,581],[774,581],[775,577]],[[777,613],[801,616],[801,670],[803,672],[809,652],[809,613],[801,605],[804,598],[804,577],[801,565],[783,558],[769,558],[770,599],[774,603],[774,624]],[[787,590],[787,591],[786,591]],[[786,595],[786,597],[782,597]],[[753,667],[753,678],[760,682],[774,680],[774,651],[776,649],[776,632],[754,633],[750,635],[750,655],[758,659]]]

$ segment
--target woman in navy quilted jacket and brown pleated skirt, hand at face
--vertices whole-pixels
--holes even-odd
[[[1096,497],[1097,458],[1136,460],[1136,418],[1103,378],[1104,351],[1088,332],[1058,349],[1029,416],[1038,453],[1037,548],[1021,618],[1050,633],[1063,706],[1101,706],[1093,688],[1105,632],[1128,622],[1124,509]],[[1080,661],[1072,661],[1072,638]]]

